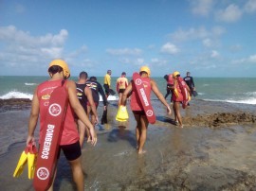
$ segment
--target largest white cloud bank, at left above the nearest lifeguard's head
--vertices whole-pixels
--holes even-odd
[[[62,58],[68,32],[32,36],[15,26],[0,27],[0,62],[7,66],[39,66],[51,59]]]

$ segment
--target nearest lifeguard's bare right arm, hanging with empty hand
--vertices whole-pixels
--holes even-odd
[[[97,143],[97,134],[94,130],[93,125],[91,124],[87,114],[84,112],[81,103],[78,100],[77,94],[76,94],[76,84],[74,81],[67,80],[66,83],[69,103],[74,110],[74,112],[78,115],[78,117],[82,120],[82,123],[84,123],[88,129],[90,130],[90,134],[92,137],[92,144],[95,146]]]

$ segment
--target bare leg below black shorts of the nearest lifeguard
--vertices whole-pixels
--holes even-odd
[[[74,161],[69,161],[71,165],[72,173],[73,173],[73,180],[77,185],[77,190],[83,191],[84,190],[84,178],[82,173],[82,163],[81,157]]]

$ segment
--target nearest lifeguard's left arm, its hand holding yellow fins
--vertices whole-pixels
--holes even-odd
[[[29,142],[32,142],[33,145],[35,145],[35,140],[34,140],[34,131],[36,129],[36,124],[38,121],[38,116],[39,116],[39,99],[37,96],[37,88],[34,91],[32,103],[31,103],[31,112],[29,116],[29,121],[28,121],[28,133],[27,133],[27,146]]]

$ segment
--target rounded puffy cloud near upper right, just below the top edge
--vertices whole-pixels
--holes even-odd
[[[238,6],[230,4],[228,8],[216,12],[215,17],[218,21],[234,23],[243,15],[243,11]]]

